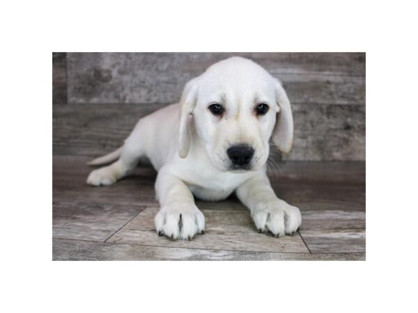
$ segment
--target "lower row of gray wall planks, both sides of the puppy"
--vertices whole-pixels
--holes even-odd
[[[53,106],[54,155],[98,157],[116,149],[139,118],[163,104]],[[294,104],[295,141],[286,160],[364,161],[365,107]]]

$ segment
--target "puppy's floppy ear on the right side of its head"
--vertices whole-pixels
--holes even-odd
[[[279,81],[276,83],[276,101],[279,106],[272,141],[281,152],[288,153],[293,145],[293,115],[291,102]]]

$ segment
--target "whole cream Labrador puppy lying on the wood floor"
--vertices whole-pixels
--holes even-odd
[[[203,234],[205,217],[194,204],[223,200],[235,192],[249,208],[258,232],[293,234],[300,211],[277,198],[266,175],[269,141],[281,152],[293,143],[293,116],[286,92],[263,67],[228,58],[189,81],[180,104],[141,118],[123,147],[91,161],[87,183],[109,185],[144,157],[158,171],[161,209],[158,234],[192,239]]]

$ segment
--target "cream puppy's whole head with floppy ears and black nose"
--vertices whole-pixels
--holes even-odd
[[[258,170],[269,140],[281,152],[293,143],[293,117],[286,92],[263,67],[245,58],[210,66],[185,86],[180,100],[179,154],[187,157],[194,127],[215,168]]]

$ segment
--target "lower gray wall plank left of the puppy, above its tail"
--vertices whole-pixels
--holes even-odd
[[[139,118],[164,105],[54,105],[54,155],[97,157],[123,145]]]

